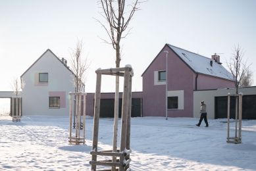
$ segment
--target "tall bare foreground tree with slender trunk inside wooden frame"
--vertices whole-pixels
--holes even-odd
[[[126,38],[128,34],[130,34],[130,30],[128,25],[134,16],[134,12],[140,10],[138,5],[142,3],[142,1],[135,0],[134,3],[128,5],[130,9],[128,12],[124,11],[124,7],[126,1],[125,0],[99,0],[98,5],[99,8],[102,9],[99,14],[105,18],[105,22],[107,26],[103,24],[103,22],[95,19],[97,22],[101,24],[103,28],[105,28],[107,35],[109,36],[110,41],[106,39],[102,39],[103,42],[111,44],[113,49],[116,51],[116,68],[120,67],[121,54],[122,49],[120,49],[120,41],[123,38]],[[126,20],[124,19],[126,18]],[[126,29],[127,32],[125,33]],[[114,129],[113,129],[113,152],[117,149],[117,129],[118,129],[118,101],[119,101],[119,76],[116,76],[116,91],[115,91],[115,120],[114,120]],[[116,157],[113,157],[113,162],[116,161]],[[112,170],[116,170],[115,167],[112,167]]]

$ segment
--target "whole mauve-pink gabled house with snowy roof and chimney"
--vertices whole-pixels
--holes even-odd
[[[165,116],[166,53],[164,51],[168,51],[168,117],[193,117],[195,90],[234,87],[232,75],[222,66],[218,55],[213,55],[209,59],[166,44],[141,75],[143,77],[142,116]]]

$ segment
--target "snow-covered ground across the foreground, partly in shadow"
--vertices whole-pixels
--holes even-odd
[[[204,122],[195,126],[197,118],[132,118],[130,168],[256,170],[256,120],[242,122],[238,145],[226,143],[223,121],[209,120],[205,128]],[[1,116],[0,170],[90,170],[93,118],[86,117],[85,145],[68,144],[68,126],[68,117],[24,116],[21,122],[12,122]],[[118,126],[120,133],[120,120]],[[100,118],[99,149],[112,149],[112,139],[113,118]]]

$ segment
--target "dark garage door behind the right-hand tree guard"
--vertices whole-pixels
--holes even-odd
[[[230,118],[236,116],[236,97],[230,97]],[[215,118],[227,118],[228,97],[215,97]],[[256,95],[243,95],[242,119],[256,119]]]

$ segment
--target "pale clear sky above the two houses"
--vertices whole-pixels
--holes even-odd
[[[70,59],[68,48],[78,37],[84,39],[84,57],[93,59],[86,92],[95,92],[95,70],[115,68],[115,50],[101,43],[107,33],[93,19],[103,21],[98,7],[97,1],[0,0],[0,91],[12,91],[13,76],[20,77],[47,49]],[[121,40],[120,66],[134,68],[132,91],[142,91],[141,74],[165,43],[209,58],[223,53],[224,66],[239,43],[256,70],[256,1],[149,0],[140,7],[130,22],[132,34]],[[256,85],[256,72],[253,78]],[[103,76],[101,91],[114,92],[115,78]]]

